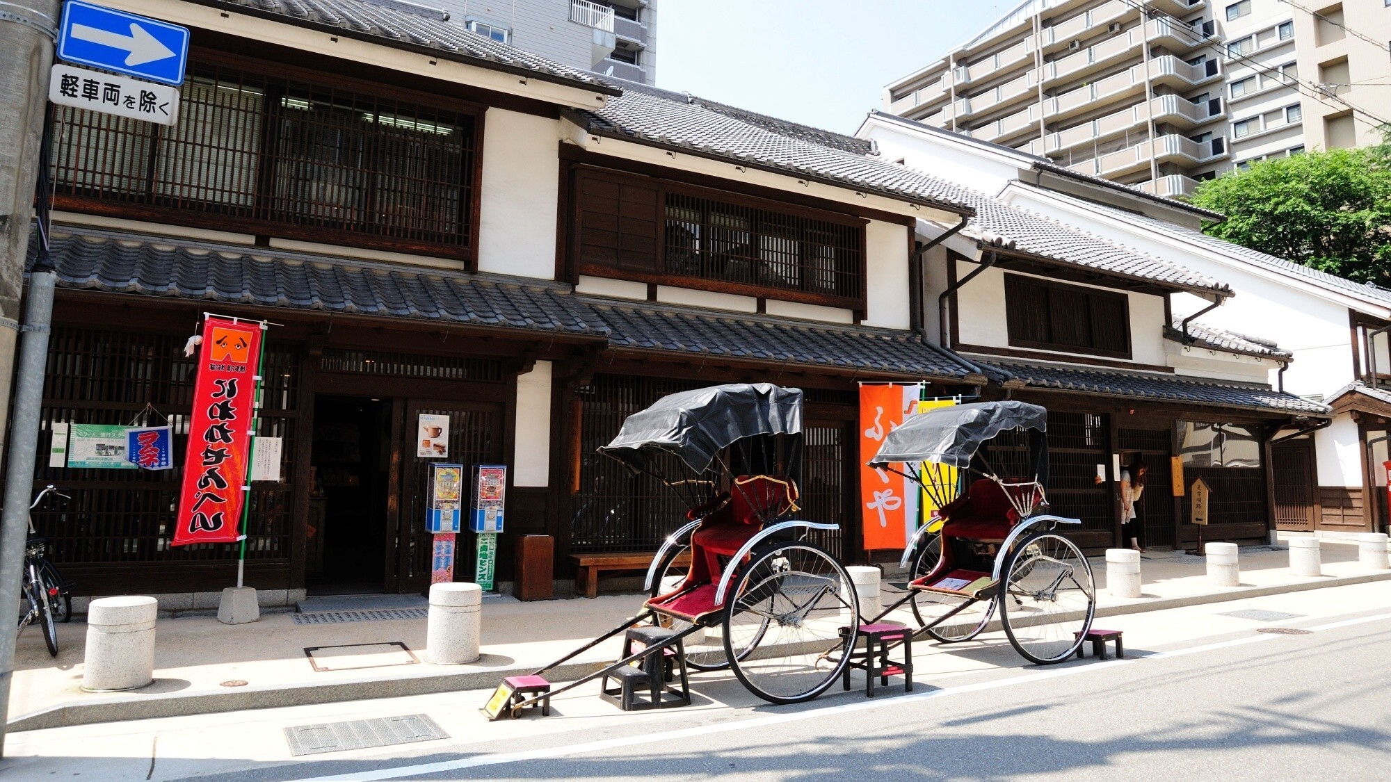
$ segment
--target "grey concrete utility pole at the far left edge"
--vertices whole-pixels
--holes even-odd
[[[53,67],[53,40],[58,29],[58,0],[0,0],[0,449],[8,445],[10,378],[14,374],[15,342],[19,334],[19,298],[24,291],[24,260],[29,249],[29,220],[33,214],[33,186],[38,178],[43,115],[49,102],[49,71]],[[51,273],[46,310],[51,306]],[[40,313],[31,313],[31,319]],[[47,346],[47,316],[43,314],[42,342]],[[38,335],[38,334],[36,334]],[[31,342],[26,340],[26,342]],[[36,363],[43,381],[43,355]],[[24,436],[29,442],[22,454],[11,454],[7,472],[21,470],[32,483],[33,449],[38,438],[39,410],[17,410],[17,420],[32,419]],[[19,442],[21,433],[13,442]],[[18,477],[18,476],[13,476]],[[6,493],[0,519],[0,607],[19,605],[19,582],[24,568],[24,541],[28,537],[28,486],[15,505]],[[10,683],[14,676],[15,635],[0,628],[0,754],[4,751],[4,725],[10,714]]]

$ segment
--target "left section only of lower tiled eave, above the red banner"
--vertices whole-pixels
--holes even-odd
[[[32,256],[32,248],[31,248]],[[604,337],[563,285],[56,225],[64,288]]]

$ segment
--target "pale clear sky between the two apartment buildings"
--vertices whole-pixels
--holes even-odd
[[[854,132],[881,90],[1018,0],[658,0],[657,86]]]

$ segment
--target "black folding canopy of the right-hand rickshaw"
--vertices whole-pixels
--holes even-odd
[[[981,445],[1007,429],[1039,433],[1029,442],[1029,449],[1035,452],[1032,461],[1038,465],[1039,456],[1046,454],[1039,451],[1046,449],[1042,433],[1047,431],[1047,410],[1039,405],[1007,401],[970,402],[918,413],[883,438],[869,466],[933,462],[968,469]]]

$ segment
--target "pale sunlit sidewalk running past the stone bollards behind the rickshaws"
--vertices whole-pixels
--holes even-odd
[[[1287,551],[1242,550],[1242,586],[1219,589],[1207,583],[1200,557],[1146,554],[1143,597],[1120,600],[1106,591],[1104,561],[1096,558],[1092,561],[1099,589],[1096,615],[1391,580],[1391,570],[1367,570],[1358,564],[1356,543],[1324,540],[1323,562],[1324,576],[1301,577],[1289,573]],[[886,605],[901,593],[894,583],[901,584],[903,579],[890,573],[883,584]],[[214,616],[160,619],[154,683],[108,694],[83,693],[78,687],[86,625],[58,626],[63,651],[56,660],[49,657],[40,635],[26,629],[17,650],[10,729],[490,689],[502,676],[529,673],[612,629],[632,616],[641,601],[636,594],[540,603],[490,600],[483,607],[484,654],[469,665],[423,662],[424,619],[296,625],[294,614],[270,614],[239,626],[223,625]],[[615,639],[601,644],[548,678],[566,680],[598,671],[618,657],[620,643]],[[409,653],[401,646],[323,648],[367,644],[402,644]],[[319,665],[306,654],[312,648],[320,650]]]

